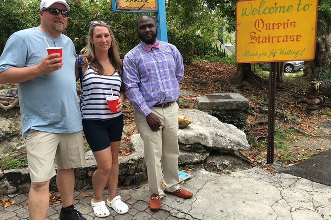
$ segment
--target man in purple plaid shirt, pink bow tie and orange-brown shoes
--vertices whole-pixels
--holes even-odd
[[[157,26],[152,16],[142,14],[136,24],[141,43],[124,57],[123,82],[143,140],[152,193],[149,208],[159,210],[164,193],[185,199],[193,195],[179,186],[178,176],[179,107],[176,100],[184,65],[182,55],[174,45],[156,39]]]

